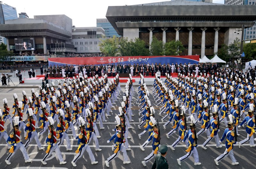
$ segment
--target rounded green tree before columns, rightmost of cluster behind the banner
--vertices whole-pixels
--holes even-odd
[[[164,44],[164,50],[162,55],[179,55],[185,48],[181,41],[172,40]]]

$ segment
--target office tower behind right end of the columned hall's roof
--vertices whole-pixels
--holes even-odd
[[[225,0],[225,4],[228,5],[256,5],[256,0]],[[256,12],[256,6],[254,6]],[[240,27],[242,29],[242,25]],[[245,27],[246,28],[246,27]],[[256,23],[250,28],[244,30],[244,40],[256,38]]]

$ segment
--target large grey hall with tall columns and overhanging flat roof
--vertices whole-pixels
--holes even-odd
[[[181,0],[179,0],[181,2]],[[171,1],[172,2],[172,1]],[[106,18],[116,32],[128,39],[140,38],[149,47],[152,37],[169,42],[180,40],[181,55],[213,55],[222,44],[241,35],[241,25],[253,26],[255,6],[198,3],[195,5],[109,6]]]

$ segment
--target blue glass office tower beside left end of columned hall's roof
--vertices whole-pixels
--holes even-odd
[[[97,27],[102,27],[104,29],[106,38],[111,38],[114,35],[116,37],[120,37],[120,35],[118,35],[116,30],[113,28],[111,23],[108,21],[108,19],[106,19],[106,18],[96,19],[96,24],[97,24]]]

